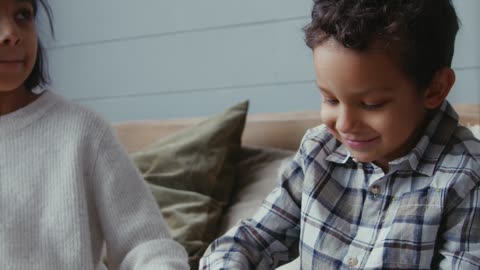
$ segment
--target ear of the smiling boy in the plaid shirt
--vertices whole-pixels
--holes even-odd
[[[455,72],[445,67],[437,71],[433,76],[432,82],[425,90],[424,105],[427,109],[435,109],[447,98],[450,89],[455,82]]]

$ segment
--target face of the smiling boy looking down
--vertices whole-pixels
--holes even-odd
[[[360,162],[388,162],[416,144],[423,95],[386,50],[358,52],[335,41],[313,51],[322,121]]]

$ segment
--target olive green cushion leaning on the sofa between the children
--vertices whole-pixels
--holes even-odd
[[[131,154],[190,266],[214,240],[230,199],[248,101]]]

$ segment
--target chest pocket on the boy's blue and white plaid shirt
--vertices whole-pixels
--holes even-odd
[[[392,201],[374,252],[384,262],[429,266],[442,222],[442,193],[425,189],[404,194]]]

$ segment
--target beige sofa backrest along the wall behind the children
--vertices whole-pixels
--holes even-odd
[[[480,124],[480,104],[454,105],[464,125]],[[134,152],[205,118],[128,121],[114,123],[128,152]],[[296,150],[305,131],[320,125],[320,111],[252,114],[242,137],[244,145]]]

